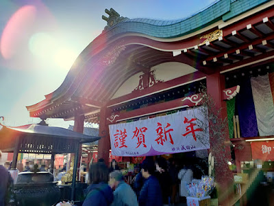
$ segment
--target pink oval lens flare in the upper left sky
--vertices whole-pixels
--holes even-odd
[[[21,44],[35,19],[34,5],[24,5],[12,15],[1,36],[0,52],[3,58],[9,59],[16,54],[16,47]]]

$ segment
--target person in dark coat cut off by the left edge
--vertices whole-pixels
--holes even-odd
[[[0,150],[0,160],[2,157],[2,152]],[[0,165],[0,206],[5,206],[7,204],[7,196],[10,184],[12,183],[12,177],[10,172]]]

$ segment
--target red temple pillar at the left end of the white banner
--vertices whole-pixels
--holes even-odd
[[[109,165],[109,155],[110,155],[110,133],[107,124],[107,108],[105,106],[101,107],[99,116],[99,139],[98,143],[98,159],[103,159],[106,165]]]

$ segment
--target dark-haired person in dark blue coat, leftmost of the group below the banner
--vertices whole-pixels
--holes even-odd
[[[110,206],[113,201],[112,188],[108,185],[109,170],[105,163],[90,165],[90,183],[86,189],[83,206]]]

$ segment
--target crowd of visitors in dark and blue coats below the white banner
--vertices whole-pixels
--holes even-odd
[[[90,186],[83,206],[88,205],[174,205],[178,181],[191,181],[192,171],[179,171],[174,159],[147,157],[132,185],[125,183],[116,161],[110,168],[99,160],[90,165]],[[186,175],[186,178],[183,178]],[[189,179],[189,180],[188,180]],[[184,192],[184,191],[182,191]],[[183,194],[188,196],[187,194]]]

